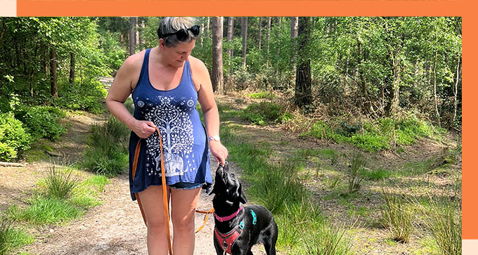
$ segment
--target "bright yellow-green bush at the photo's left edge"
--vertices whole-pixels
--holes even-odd
[[[10,161],[30,148],[30,134],[12,113],[0,113],[0,159]]]

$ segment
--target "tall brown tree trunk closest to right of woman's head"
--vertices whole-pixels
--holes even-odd
[[[224,93],[222,72],[222,34],[223,17],[212,18],[212,90]]]

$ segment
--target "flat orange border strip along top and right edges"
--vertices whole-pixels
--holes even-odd
[[[161,15],[223,15],[223,16],[462,16],[463,17],[463,239],[478,240],[478,157],[473,157],[477,137],[472,132],[477,119],[477,87],[472,85],[473,67],[477,67],[477,20],[472,0],[336,0],[336,1],[241,1],[241,0],[18,0],[17,15],[57,16],[161,16]]]

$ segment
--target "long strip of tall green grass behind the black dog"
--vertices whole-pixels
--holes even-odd
[[[344,232],[332,228],[315,204],[304,202],[313,199],[299,181],[299,166],[294,159],[269,163],[272,152],[267,145],[245,143],[231,126],[221,126],[221,140],[228,148],[230,160],[243,169],[243,180],[250,185],[249,200],[273,212],[280,229],[278,247],[288,254],[352,254]],[[322,248],[316,249],[318,246]]]

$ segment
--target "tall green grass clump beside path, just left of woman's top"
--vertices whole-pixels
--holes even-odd
[[[123,173],[128,166],[127,139],[131,131],[115,117],[104,124],[93,124],[82,166],[108,176]]]

